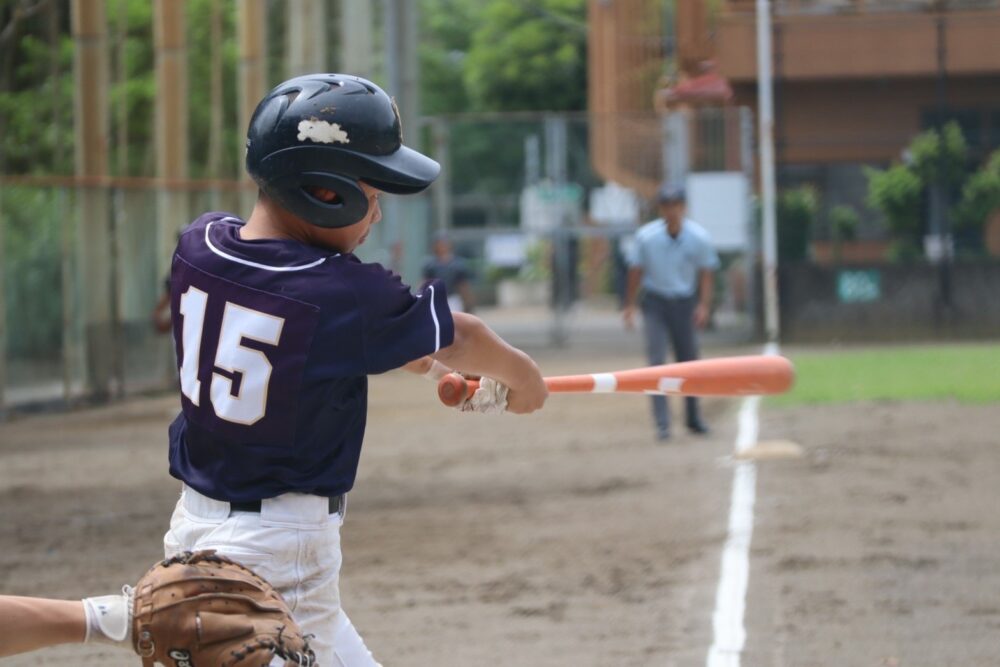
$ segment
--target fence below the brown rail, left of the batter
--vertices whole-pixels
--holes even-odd
[[[187,217],[171,226],[179,229],[206,210],[238,210],[235,185],[193,184],[184,195]],[[88,205],[107,213],[97,238],[83,231],[84,192]],[[170,336],[155,323],[169,321],[157,224],[163,193],[139,179],[96,188],[68,178],[7,178],[0,185],[0,344],[6,352],[0,411],[172,385]],[[106,290],[95,275],[109,278]],[[95,377],[103,380],[95,384]]]

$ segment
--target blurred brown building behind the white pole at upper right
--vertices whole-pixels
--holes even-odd
[[[1000,147],[1000,0],[775,0],[775,142],[779,185],[810,182],[828,204],[863,207],[863,165],[901,159],[942,115],[957,120],[975,157]],[[659,0],[591,0],[591,111],[597,118],[653,107],[649,70],[673,52],[681,77],[705,61],[728,80],[731,104],[757,106],[755,3],[676,0],[673,38]],[[663,48],[653,48],[663,47]],[[646,72],[644,77],[634,76]],[[645,90],[637,87],[646,85]],[[655,88],[655,86],[654,86]],[[602,174],[655,174],[632,164],[635,130],[594,131]],[[653,131],[653,130],[648,130]],[[632,163],[629,162],[632,161]],[[630,171],[631,170],[631,171]],[[611,177],[611,176],[608,176]]]

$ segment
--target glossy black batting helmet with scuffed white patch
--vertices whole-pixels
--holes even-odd
[[[299,76],[268,93],[250,119],[246,166],[268,197],[320,227],[346,227],[367,214],[358,181],[413,194],[441,171],[403,145],[399,110],[385,91],[344,74]],[[324,202],[311,187],[338,197]]]

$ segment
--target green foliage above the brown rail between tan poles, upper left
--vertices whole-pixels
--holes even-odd
[[[73,171],[74,74],[73,38],[68,9],[61,7],[56,48],[50,45],[46,17],[41,15],[21,26],[22,37],[2,55],[12,63],[13,76],[0,90],[0,152],[9,173],[57,173]],[[189,123],[191,172],[195,178],[207,173],[210,104],[210,0],[187,0]],[[153,50],[153,3],[148,0],[108,0],[107,38],[109,50],[108,105],[110,109],[109,154],[111,172],[118,175],[151,175],[154,170],[154,117],[156,74]],[[223,177],[239,174],[238,156],[243,128],[236,119],[237,44],[235,12],[231,2],[222,3]],[[125,32],[122,33],[121,29]],[[56,58],[58,76],[50,76]],[[119,62],[122,58],[124,62]],[[278,59],[279,65],[283,61]],[[121,67],[123,66],[123,67]],[[120,73],[124,78],[120,78]],[[126,154],[115,142],[127,124]],[[124,157],[127,165],[120,164]]]

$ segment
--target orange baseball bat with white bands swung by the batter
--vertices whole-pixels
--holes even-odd
[[[545,378],[550,392],[641,392],[682,396],[747,396],[780,394],[792,386],[795,369],[784,357],[753,355],[682,361],[611,373],[558,375]],[[438,381],[438,398],[447,406],[475,393],[477,380],[451,373]]]

